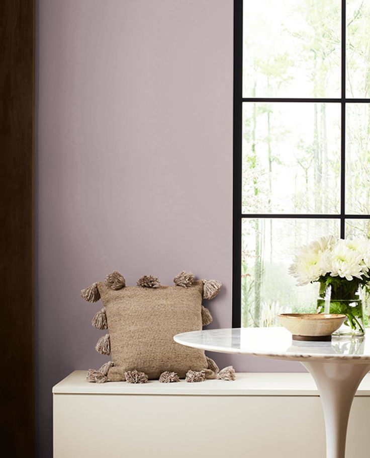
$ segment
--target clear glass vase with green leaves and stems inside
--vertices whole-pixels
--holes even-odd
[[[333,336],[363,336],[365,333],[363,316],[363,291],[361,287],[351,290],[350,282],[343,283],[342,288],[331,285],[320,288],[317,300],[317,313],[346,315],[342,326]]]

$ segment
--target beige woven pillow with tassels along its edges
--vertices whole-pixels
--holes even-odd
[[[175,286],[161,286],[156,277],[144,276],[137,286],[126,286],[124,277],[115,271],[104,282],[81,291],[85,300],[103,302],[104,308],[95,315],[92,324],[98,329],[108,329],[109,334],[99,339],[96,349],[112,356],[112,361],[98,371],[88,371],[89,381],[233,379],[233,370],[219,371],[203,350],[173,341],[175,334],[198,331],[211,323],[211,314],[203,307],[202,299],[215,297],[221,283],[195,281],[191,272],[181,272],[174,282]]]

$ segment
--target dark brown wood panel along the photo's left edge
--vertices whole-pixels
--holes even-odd
[[[34,0],[0,1],[0,431],[34,456]]]

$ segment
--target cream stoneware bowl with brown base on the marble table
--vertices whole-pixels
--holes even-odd
[[[345,315],[324,313],[282,313],[281,324],[293,334],[293,340],[329,341],[340,328]]]

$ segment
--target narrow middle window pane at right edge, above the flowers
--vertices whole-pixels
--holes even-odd
[[[370,105],[346,104],[346,213],[370,214]]]

